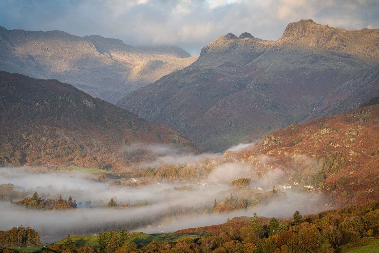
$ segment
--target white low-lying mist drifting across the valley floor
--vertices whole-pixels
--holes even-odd
[[[241,145],[241,147],[245,146]],[[153,148],[156,147],[151,149]],[[164,150],[164,152],[170,153],[171,150]],[[177,162],[186,163],[198,162],[201,157],[185,157],[179,154],[161,156],[159,159],[175,164],[175,159]],[[261,159],[269,158],[262,157]],[[111,184],[111,181],[89,180],[88,177],[96,177],[96,175],[89,176],[80,171],[1,168],[0,184],[14,185],[12,189],[18,191],[19,194],[13,195],[11,199],[13,203],[6,199],[5,195],[2,198],[3,201],[0,201],[2,214],[0,215],[0,230],[20,225],[32,226],[40,233],[41,241],[49,243],[57,238],[63,238],[67,233],[97,234],[121,229],[122,225],[126,225],[130,232],[167,233],[179,229],[224,223],[227,217],[251,217],[255,212],[258,216],[288,218],[296,210],[302,214],[311,214],[325,209],[320,195],[281,189],[281,192],[286,193],[267,203],[263,204],[264,201],[262,201],[249,208],[246,206],[246,208],[230,212],[213,212],[215,199],[218,203],[222,203],[225,198],[233,194],[235,198],[246,198],[247,201],[249,196],[245,194],[251,193],[254,193],[253,198],[254,196],[262,198],[262,196],[272,195],[271,192],[265,195],[265,191],[273,190],[273,185],[279,188],[279,184],[284,184],[283,171],[275,169],[266,171],[265,177],[254,179],[244,189],[236,190],[230,185],[238,178],[255,178],[256,173],[252,165],[223,163],[216,166],[205,178],[193,182],[167,183],[151,180],[148,184],[141,184],[138,187],[121,187]],[[183,190],[183,185],[188,187]],[[60,196],[67,199],[71,196],[76,200],[79,208],[66,211],[40,210],[14,204],[25,196],[31,197],[34,192],[38,192],[43,199],[54,199]],[[127,203],[127,205],[124,208],[107,208],[106,204],[111,198],[114,198],[116,204]],[[133,206],[136,201],[144,204]]]

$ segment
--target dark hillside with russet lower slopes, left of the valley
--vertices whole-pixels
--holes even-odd
[[[4,71],[0,122],[0,165],[117,168],[130,162],[122,151],[131,144],[204,150],[170,127],[150,124],[70,84]]]

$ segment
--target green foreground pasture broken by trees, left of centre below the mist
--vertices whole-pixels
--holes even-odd
[[[108,233],[106,233],[108,234]],[[75,245],[77,247],[83,247],[85,245],[92,245],[94,248],[98,247],[98,236],[87,236],[87,235],[80,235],[80,236],[71,236],[71,239],[73,242],[75,242]],[[106,235],[108,237],[108,235]],[[197,236],[190,235],[190,234],[177,234],[177,233],[165,233],[165,234],[145,234],[142,232],[133,232],[128,234],[127,242],[134,242],[138,245],[139,248],[147,246],[152,241],[163,241],[163,240],[169,240],[169,241],[175,241],[180,238],[196,238]],[[58,244],[64,244],[65,239],[59,240],[57,242],[54,242],[53,244],[38,244],[35,246],[25,246],[25,247],[10,247],[14,248],[19,251],[26,251],[26,252],[33,252],[36,250],[40,250],[42,247],[49,247],[51,245],[58,245]]]

